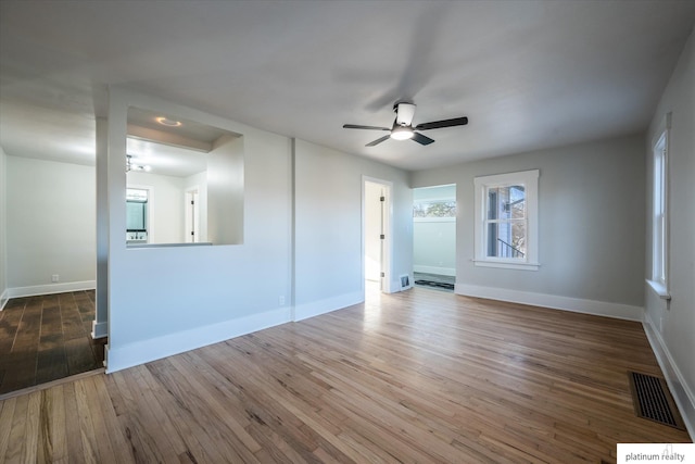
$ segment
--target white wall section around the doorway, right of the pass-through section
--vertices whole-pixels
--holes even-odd
[[[393,183],[391,288],[410,276],[413,195],[407,174],[336,150],[295,142],[295,314],[303,318],[364,299],[363,176]]]

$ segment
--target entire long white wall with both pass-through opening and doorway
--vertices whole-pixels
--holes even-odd
[[[127,249],[100,236],[109,242],[109,372],[292,321],[294,301],[298,318],[362,301],[363,175],[394,183],[394,279],[408,274],[405,172],[118,88],[108,131],[112,236],[125,230],[126,115],[135,102],[243,137],[244,240]]]

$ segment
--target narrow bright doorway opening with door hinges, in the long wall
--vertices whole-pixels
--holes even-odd
[[[386,180],[363,178],[363,261],[366,293],[391,292],[391,188]]]

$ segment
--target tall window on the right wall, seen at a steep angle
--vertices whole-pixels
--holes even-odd
[[[668,126],[654,143],[654,173],[652,183],[652,279],[647,280],[654,291],[664,299],[668,292]]]

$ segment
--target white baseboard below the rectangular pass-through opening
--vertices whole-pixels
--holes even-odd
[[[117,340],[109,340],[109,344],[105,348],[106,361],[104,362],[106,373],[111,374],[288,322],[290,322],[290,309],[280,308],[122,347],[111,348],[111,344],[114,341],[117,342]]]

